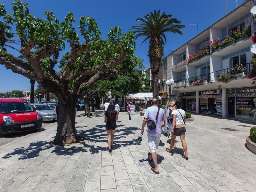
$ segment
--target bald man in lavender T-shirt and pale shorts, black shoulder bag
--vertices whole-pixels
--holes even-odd
[[[155,167],[151,167],[151,171],[159,174],[157,165],[156,149],[160,143],[160,136],[162,133],[162,122],[164,122],[164,109],[158,107],[158,100],[153,99],[152,106],[147,108],[144,114],[144,120],[141,127],[141,133],[144,132],[144,127],[147,124],[148,132],[148,147],[150,152],[148,153],[148,161],[152,161]]]

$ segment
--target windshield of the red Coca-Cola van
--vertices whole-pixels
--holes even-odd
[[[34,109],[25,102],[0,102],[0,113],[32,112]]]

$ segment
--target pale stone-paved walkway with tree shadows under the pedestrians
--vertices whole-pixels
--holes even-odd
[[[150,170],[143,118],[132,122],[120,113],[114,150],[108,154],[103,114],[76,116],[82,144],[53,147],[49,141],[56,123],[0,147],[0,192],[3,191],[256,191],[256,155],[244,146],[250,124],[194,115],[187,125],[189,161],[181,158],[180,139],[173,154],[165,151],[170,140],[161,137],[158,148],[160,174]],[[222,128],[232,128],[228,131]]]

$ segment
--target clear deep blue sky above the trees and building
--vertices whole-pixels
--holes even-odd
[[[7,12],[11,12],[12,1],[2,0],[5,4]],[[79,24],[79,17],[82,15],[92,16],[98,23],[102,33],[102,38],[106,38],[110,27],[120,26],[122,32],[127,32],[131,26],[139,24],[135,20],[143,17],[155,9],[162,12],[172,14],[182,22],[186,28],[183,28],[184,35],[167,33],[167,43],[164,45],[164,55],[171,53],[172,50],[193,38],[197,34],[196,25],[190,23],[198,23],[199,33],[212,23],[225,16],[225,0],[25,0],[28,3],[30,13],[36,17],[44,18],[44,12],[51,10],[58,20],[63,21],[68,12],[73,12],[76,19],[76,26]],[[238,5],[244,0],[238,0]],[[227,0],[228,12],[236,8],[236,0]],[[146,68],[149,67],[148,42],[141,45],[144,38],[136,40],[135,54],[144,60]],[[17,52],[11,51],[17,55]],[[57,64],[58,65],[58,64]],[[26,77],[7,70],[0,65],[0,92],[11,90],[29,90],[30,84]]]

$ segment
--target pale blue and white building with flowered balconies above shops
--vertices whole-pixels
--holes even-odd
[[[244,2],[168,55],[171,73],[163,80],[174,79],[170,100],[182,101],[184,110],[195,113],[254,118],[256,86],[247,79],[250,38],[256,30],[250,13],[254,5]],[[167,91],[166,84],[163,89]]]

